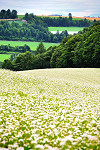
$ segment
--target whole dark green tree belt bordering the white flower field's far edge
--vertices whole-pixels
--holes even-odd
[[[100,67],[100,23],[64,38],[59,46],[47,50],[40,43],[35,55],[27,51],[13,61],[5,60],[2,65],[2,68],[17,71],[68,67]]]

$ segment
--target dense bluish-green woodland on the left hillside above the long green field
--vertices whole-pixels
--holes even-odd
[[[61,42],[67,37],[67,31],[52,34],[48,27],[38,23],[23,23],[19,25],[16,22],[11,24],[8,21],[0,21],[0,40],[21,40],[21,41],[43,41],[43,42]]]

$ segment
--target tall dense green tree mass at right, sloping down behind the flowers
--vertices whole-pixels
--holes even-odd
[[[52,57],[51,67],[100,67],[100,24],[62,41]]]

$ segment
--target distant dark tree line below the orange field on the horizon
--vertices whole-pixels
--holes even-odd
[[[67,17],[39,17],[34,14],[26,13],[24,19],[27,20],[28,23],[40,23],[45,26],[52,27],[69,27],[69,26],[77,26],[77,27],[89,27],[93,24],[93,22],[85,19],[81,20],[73,20],[71,13],[69,13],[69,18]]]

